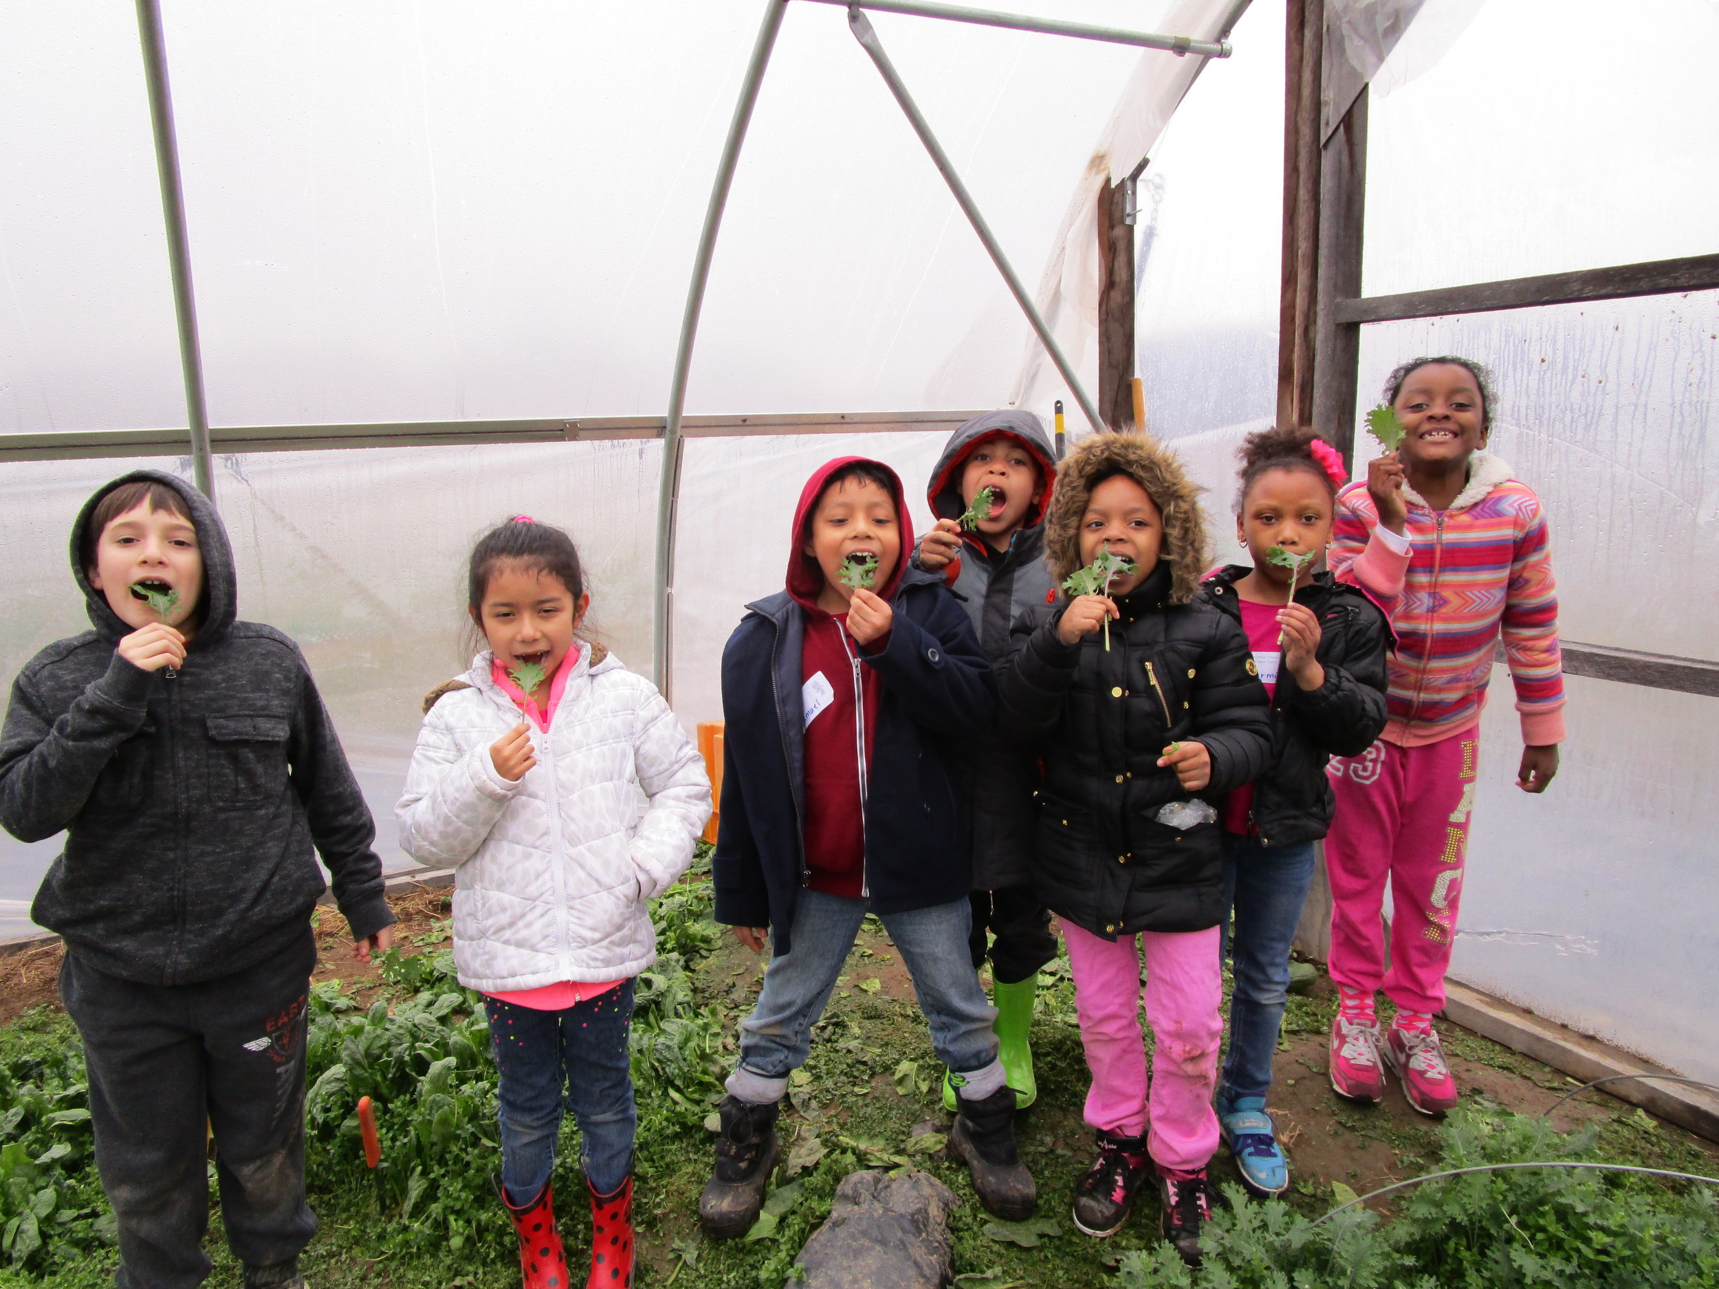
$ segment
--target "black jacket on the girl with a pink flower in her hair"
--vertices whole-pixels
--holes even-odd
[[[1251,569],[1231,564],[1200,588],[1200,598],[1238,627],[1236,579]],[[1318,689],[1301,689],[1282,672],[1272,701],[1272,754],[1253,785],[1253,828],[1265,846],[1294,846],[1325,835],[1337,801],[1325,779],[1332,756],[1360,756],[1386,727],[1386,651],[1391,626],[1367,595],[1329,572],[1294,593],[1318,617],[1313,657],[1325,669]]]

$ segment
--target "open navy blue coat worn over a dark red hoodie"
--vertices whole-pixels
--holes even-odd
[[[865,655],[882,689],[872,736],[865,875],[873,913],[966,899],[968,820],[954,758],[983,736],[997,681],[966,612],[942,577],[902,574],[882,653]],[[787,591],[746,605],[722,651],[722,815],[713,859],[715,918],[770,926],[786,954],[806,885],[804,720],[799,699],[804,610]]]

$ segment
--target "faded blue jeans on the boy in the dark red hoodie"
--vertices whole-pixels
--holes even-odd
[[[863,899],[799,892],[794,949],[770,959],[758,1005],[741,1021],[741,1064],[729,1076],[734,1097],[755,1103],[782,1100],[789,1071],[811,1052],[811,1026],[823,1016],[865,914]],[[961,1095],[994,1093],[1004,1084],[992,1031],[997,1009],[985,1000],[968,952],[971,906],[957,899],[913,913],[884,913],[878,919],[913,976],[937,1057],[966,1078]]]

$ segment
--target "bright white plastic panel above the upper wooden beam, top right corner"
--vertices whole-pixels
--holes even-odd
[[[1487,3],[1423,70],[1418,27],[1368,107],[1365,294],[1712,253],[1719,5]]]

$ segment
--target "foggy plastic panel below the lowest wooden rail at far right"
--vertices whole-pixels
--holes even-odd
[[[1492,672],[1451,974],[1690,1078],[1719,1081],[1719,699],[1566,677],[1569,741],[1516,789],[1509,674]]]

